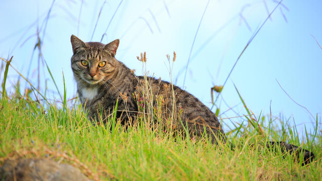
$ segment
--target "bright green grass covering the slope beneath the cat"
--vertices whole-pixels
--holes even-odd
[[[315,159],[301,166],[291,155],[272,153],[261,146],[266,139],[250,127],[240,127],[238,134],[232,131],[230,140],[236,147],[231,151],[206,139],[191,140],[153,131],[142,120],[127,129],[118,124],[112,130],[93,126],[81,106],[64,108],[40,105],[17,95],[4,97],[0,102],[0,165],[6,158],[48,156],[74,164],[90,178],[102,180],[319,180],[322,177],[320,132],[315,141],[308,139],[302,144],[315,153]],[[265,119],[262,117],[262,123]],[[113,121],[112,117],[108,124]],[[297,135],[287,125],[284,127],[284,131],[278,132],[270,126],[264,132],[273,140],[299,145]]]

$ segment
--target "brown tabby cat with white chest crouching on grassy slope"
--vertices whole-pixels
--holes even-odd
[[[71,69],[77,83],[78,97],[87,110],[89,119],[94,122],[99,118],[106,120],[118,102],[116,117],[121,124],[135,120],[139,111],[137,103],[141,99],[140,85],[147,81],[152,95],[155,96],[153,104],[158,103],[157,98],[162,98],[165,115],[176,113],[172,126],[179,131],[188,128],[192,137],[199,138],[206,133],[214,144],[229,143],[218,118],[196,97],[167,81],[136,76],[125,64],[118,61],[115,58],[120,42],[118,39],[105,45],[100,42],[85,43],[71,35],[70,41],[73,51]],[[275,144],[280,145],[284,152],[304,152],[304,164],[314,158],[312,152],[285,142],[270,141],[266,146],[271,148]]]

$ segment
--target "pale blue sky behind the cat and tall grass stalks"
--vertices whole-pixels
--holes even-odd
[[[14,56],[11,64],[37,85],[39,52],[33,50],[38,32],[41,53],[60,92],[63,92],[63,72],[67,97],[73,98],[76,83],[70,68],[72,34],[85,42],[109,43],[120,39],[118,60],[142,75],[142,63],[136,56],[146,52],[148,74],[167,81],[171,79],[166,55],[173,57],[175,51],[173,82],[211,108],[210,88],[225,82],[240,53],[277,5],[275,0],[1,1],[0,57]],[[235,85],[257,117],[269,115],[271,109],[273,117],[289,120],[288,124],[297,125],[297,131],[302,134],[304,126],[313,131],[312,116],[317,115],[320,129],[321,7],[319,0],[282,1],[227,79],[216,102],[221,118],[246,114]],[[40,65],[40,91],[44,92],[47,82],[47,97],[59,100],[42,60]],[[3,79],[3,71],[0,77]],[[18,78],[11,68],[9,92]],[[310,113],[294,103],[278,82]],[[231,122],[240,124],[244,119],[221,122],[227,131]]]

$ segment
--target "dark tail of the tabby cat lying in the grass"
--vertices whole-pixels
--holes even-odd
[[[281,148],[282,153],[288,152],[289,154],[294,153],[294,160],[299,162],[300,161],[300,155],[303,154],[304,161],[302,162],[302,165],[308,164],[314,159],[314,154],[311,151],[308,151],[306,149],[302,149],[298,146],[285,143],[283,141],[269,141],[266,143],[266,147],[276,151],[278,147]]]

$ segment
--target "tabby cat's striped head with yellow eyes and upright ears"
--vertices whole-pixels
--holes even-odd
[[[70,42],[73,51],[71,69],[77,83],[102,84],[113,76],[117,66],[114,56],[120,42],[118,39],[105,45],[85,43],[71,35]]]

